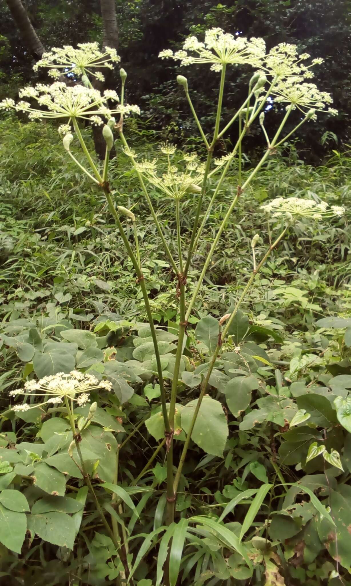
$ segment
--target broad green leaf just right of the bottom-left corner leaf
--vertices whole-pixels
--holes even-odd
[[[75,523],[67,513],[32,513],[28,517],[28,529],[44,541],[73,550]]]

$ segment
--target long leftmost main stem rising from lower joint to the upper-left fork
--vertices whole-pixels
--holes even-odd
[[[125,245],[126,251],[129,255],[129,258],[133,263],[133,267],[136,272],[140,288],[142,289],[142,294],[143,294],[143,299],[144,299],[144,304],[145,304],[145,309],[146,309],[146,314],[147,314],[147,321],[149,321],[150,331],[151,331],[153,345],[154,345],[154,352],[155,352],[155,357],[156,357],[157,374],[159,376],[160,391],[161,391],[161,404],[162,404],[162,414],[163,414],[163,419],[164,419],[164,427],[165,427],[166,431],[169,432],[170,427],[169,427],[169,423],[168,423],[168,415],[167,415],[167,407],[166,407],[166,391],[164,390],[164,381],[163,381],[163,374],[162,374],[159,345],[157,343],[156,328],[155,328],[154,322],[153,322],[153,316],[152,316],[152,311],[150,308],[149,297],[147,295],[147,289],[146,289],[146,285],[145,285],[145,281],[144,281],[144,275],[143,275],[143,272],[142,272],[139,264],[137,263],[137,260],[135,258],[133,251],[132,251],[132,248],[130,247],[128,238],[125,235],[125,231],[123,230],[121,220],[119,219],[118,213],[116,212],[115,206],[113,205],[112,198],[111,198],[111,195],[108,191],[108,188],[106,188],[106,186],[105,186],[105,187],[103,187],[103,189],[104,189],[104,193],[106,196],[106,200],[108,202],[110,212],[115,219],[119,233],[121,234],[121,237],[123,240],[123,244]]]

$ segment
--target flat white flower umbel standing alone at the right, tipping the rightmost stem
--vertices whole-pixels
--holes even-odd
[[[323,218],[333,216],[343,216],[345,208],[342,206],[328,206],[328,203],[316,203],[312,199],[300,199],[299,197],[277,197],[271,202],[261,206],[267,214],[273,212],[273,217],[291,214],[293,219],[314,218],[322,220]]]

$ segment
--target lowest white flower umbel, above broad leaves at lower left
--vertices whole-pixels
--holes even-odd
[[[30,380],[25,383],[24,390],[17,389],[10,391],[9,396],[28,396],[31,394],[39,397],[49,396],[44,403],[40,403],[40,407],[48,403],[62,403],[64,398],[67,397],[70,401],[75,401],[79,406],[82,406],[88,402],[88,393],[94,389],[111,391],[112,384],[106,380],[99,381],[92,374],[83,374],[78,370],[72,370],[68,374],[59,372],[50,376],[44,376],[40,380]],[[23,405],[16,405],[13,407],[13,411],[27,411],[33,407],[38,407],[38,405],[33,404],[33,406],[29,406],[25,403]]]

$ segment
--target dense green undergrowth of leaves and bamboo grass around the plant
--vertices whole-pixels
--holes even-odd
[[[157,148],[160,138],[147,125],[132,120],[127,132],[137,152],[152,155]],[[153,539],[160,539],[157,532],[164,523],[165,448],[159,386],[147,346],[150,332],[144,323],[135,272],[104,196],[64,156],[56,129],[8,117],[0,122],[0,135],[0,400],[5,413],[0,434],[0,466],[5,464],[5,468],[0,468],[4,473],[0,488],[6,492],[14,482],[15,487],[24,487],[27,502],[34,503],[34,520],[22,556],[16,547],[12,550],[17,553],[11,553],[0,546],[2,583],[112,584],[123,572],[121,559],[82,486],[81,475],[67,455],[70,441],[65,418],[42,420],[40,410],[33,409],[30,414],[17,414],[18,424],[14,414],[9,414],[8,391],[21,386],[33,371],[37,377],[45,374],[49,353],[57,364],[61,360],[65,366],[69,362],[72,370],[103,371],[113,381],[115,394],[100,398],[104,409],[98,408],[90,427],[82,433],[82,450],[90,462],[95,488],[102,493],[105,490],[101,502],[106,513],[119,526],[121,551],[131,567],[135,564],[135,584],[160,584],[160,559],[167,554],[168,541],[161,541],[163,551],[158,558],[151,546]],[[90,144],[90,131],[86,129],[84,136]],[[149,141],[147,152],[142,142],[145,137]],[[160,346],[164,345],[169,392],[179,328],[175,321],[177,283],[167,258],[160,254],[149,209],[118,141],[116,152],[111,163],[112,196],[118,205],[132,209],[137,218],[140,257]],[[247,159],[244,173],[250,165]],[[284,148],[270,157],[259,178],[240,197],[238,211],[219,243],[187,330],[177,399],[180,441],[183,436],[185,439],[183,430],[189,417],[183,403],[197,397],[209,347],[218,338],[211,319],[226,314],[242,292],[252,271],[253,235],[260,235],[257,258],[267,248],[261,203],[278,196],[321,197],[346,208],[341,219],[294,224],[288,239],[271,253],[238,312],[204,400],[214,423],[208,425],[206,417],[201,419],[202,427],[192,436],[194,442],[178,489],[177,521],[185,522],[187,517],[188,522],[191,517],[200,525],[191,539],[187,534],[184,549],[187,527],[177,525],[169,554],[170,567],[176,568],[173,584],[349,583],[351,435],[344,428],[350,423],[341,427],[333,401],[338,396],[346,398],[351,389],[351,336],[347,329],[351,323],[350,184],[351,159],[345,149],[342,153],[333,151],[324,166],[313,168],[298,158],[292,146]],[[233,169],[202,234],[190,271],[190,288],[237,185]],[[171,243],[176,240],[173,209],[156,191],[150,195],[159,198],[156,207],[162,210],[166,238]],[[206,197],[211,197],[211,183]],[[193,205],[192,199],[181,200],[184,243],[190,237],[188,210]],[[123,225],[132,240],[132,224],[127,220]],[[201,318],[207,331],[198,325]],[[115,360],[109,360],[111,357]],[[240,376],[233,377],[233,373]],[[210,397],[221,400],[224,411],[216,413]],[[288,422],[291,424],[297,412],[301,417],[303,410],[310,415],[307,423],[302,418],[302,425],[292,425],[289,430]],[[81,414],[87,415],[87,407],[81,408]],[[212,434],[222,418],[228,421],[229,439],[224,438],[222,449],[211,454]],[[205,438],[201,438],[204,430]],[[129,434],[131,438],[124,444]],[[199,447],[203,442],[207,444],[205,451],[210,452],[207,455]],[[315,442],[319,447],[325,445],[330,454],[339,452],[340,461],[335,454],[328,461],[321,451],[306,462]],[[152,465],[144,470],[157,445]],[[179,456],[177,448],[175,458]],[[116,478],[123,492],[115,495],[112,507],[107,488]],[[99,482],[105,482],[104,489],[99,488]],[[267,482],[274,485],[274,492],[265,500],[262,486]],[[302,493],[299,483],[309,492]],[[64,498],[65,489],[77,497],[74,504],[73,499]],[[61,496],[60,506],[47,493]],[[248,519],[246,513],[253,502],[257,507],[250,507],[254,514]],[[0,498],[0,503],[6,507],[6,500]],[[86,505],[84,515],[80,503]],[[321,503],[330,508],[324,509]],[[16,515],[25,510],[14,509],[13,519],[6,519],[6,523],[19,522]],[[324,516],[328,511],[329,519]],[[201,526],[199,515],[208,515],[208,525]],[[219,516],[225,524],[212,526],[211,519]],[[219,527],[224,528],[222,533]],[[252,578],[224,530],[234,536],[230,538],[234,544],[243,530],[248,536]],[[53,532],[58,537],[52,537]],[[132,533],[133,539],[128,540]]]

